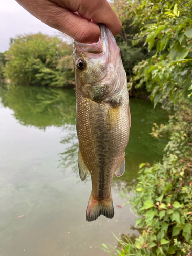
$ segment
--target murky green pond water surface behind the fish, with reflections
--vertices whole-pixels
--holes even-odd
[[[160,161],[166,141],[148,133],[165,123],[167,113],[151,102],[130,99],[132,126],[126,170],[114,177],[115,216],[86,222],[91,179],[82,182],[77,167],[75,91],[0,85],[0,255],[108,255],[101,243],[117,245],[113,234],[136,234],[130,206],[138,165]],[[22,217],[21,217],[22,216]]]

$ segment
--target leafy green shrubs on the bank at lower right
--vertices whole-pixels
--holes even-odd
[[[125,253],[115,255],[190,255],[192,251],[192,108],[185,100],[175,106],[167,125],[154,124],[152,136],[169,136],[162,163],[140,164],[130,200],[139,218],[140,237],[119,240]],[[123,197],[126,196],[126,191]],[[105,245],[106,248],[106,245]],[[108,248],[108,247],[107,247]],[[128,251],[129,248],[129,251]],[[109,250],[109,248],[108,248]],[[126,252],[127,251],[127,252]]]

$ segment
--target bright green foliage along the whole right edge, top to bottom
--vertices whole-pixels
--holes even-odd
[[[154,107],[172,110],[167,124],[154,123],[151,135],[169,137],[162,163],[140,164],[140,176],[129,201],[139,215],[140,236],[118,240],[111,255],[192,255],[192,1],[129,1],[125,7],[133,35],[145,40],[153,56],[134,68],[131,86],[146,87]],[[125,18],[126,19],[126,18]],[[126,191],[122,195],[126,196]],[[114,254],[113,254],[114,253]]]

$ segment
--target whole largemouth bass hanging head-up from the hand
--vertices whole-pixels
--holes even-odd
[[[97,43],[74,40],[78,168],[82,181],[91,174],[86,220],[114,217],[111,185],[125,170],[131,114],[126,73],[111,31],[99,24]]]

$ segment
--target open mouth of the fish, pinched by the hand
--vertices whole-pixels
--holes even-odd
[[[103,24],[98,24],[100,28],[100,36],[98,42],[93,42],[92,44],[81,44],[77,40],[73,40],[74,48],[82,52],[89,53],[102,53],[103,52],[103,39],[106,34],[106,27]]]

